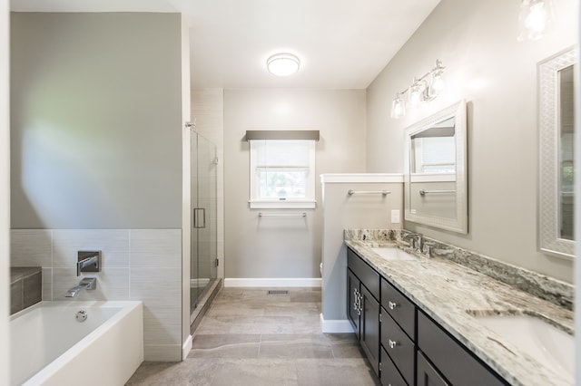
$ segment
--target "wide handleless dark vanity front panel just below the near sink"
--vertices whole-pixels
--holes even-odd
[[[428,316],[418,312],[418,346],[446,379],[455,385],[503,385],[496,373],[468,352]]]

